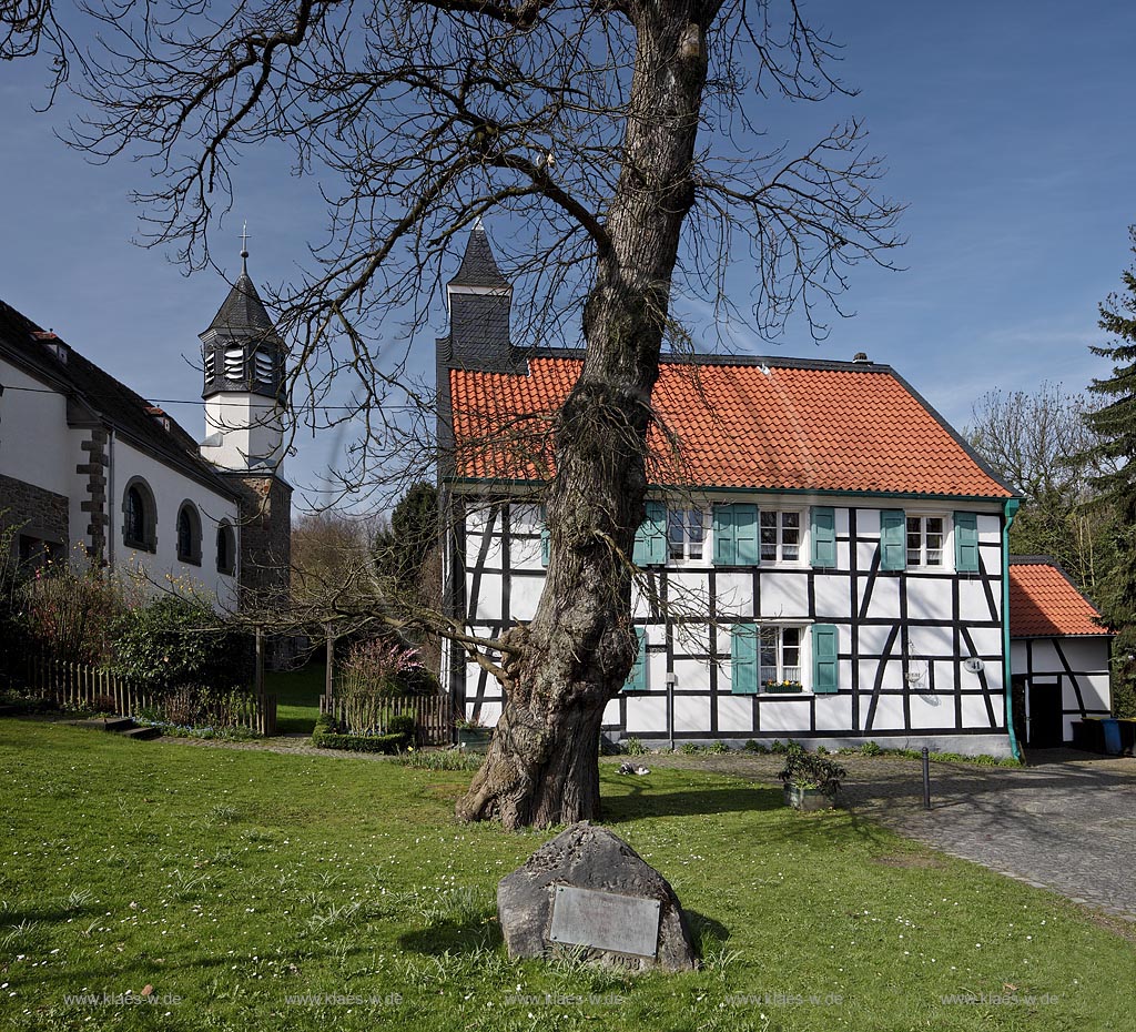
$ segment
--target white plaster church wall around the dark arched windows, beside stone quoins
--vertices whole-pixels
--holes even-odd
[[[123,492],[133,476],[145,480],[157,503],[158,547],[154,554],[135,551],[123,544]],[[228,519],[234,536],[240,541],[236,502],[215,494],[209,488],[172,469],[117,435],[108,481],[108,538],[114,539],[116,569],[124,574],[134,569],[144,571],[145,580],[151,584],[150,590],[154,591],[175,581],[191,588],[194,593],[200,592],[202,597],[216,600],[218,609],[234,610],[237,604],[237,581],[236,577],[217,571],[217,524],[220,519]],[[182,563],[177,558],[177,510],[186,500],[197,506],[201,517],[200,566]]]

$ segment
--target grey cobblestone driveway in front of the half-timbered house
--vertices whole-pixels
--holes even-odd
[[[932,764],[922,809],[919,760],[842,756],[852,808],[953,856],[1136,922],[1136,759],[1069,750],[1031,766]],[[651,756],[649,765],[713,769],[776,783],[776,756]]]

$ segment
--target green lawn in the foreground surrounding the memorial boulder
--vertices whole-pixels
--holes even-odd
[[[496,881],[549,833],[456,824],[468,776],[0,721],[0,1022],[1129,1026],[1136,949],[1074,905],[846,813],[802,816],[772,788],[691,771],[625,780],[605,765],[603,792],[608,822],[694,915],[703,969],[510,963]],[[118,1002],[145,987],[166,1001]],[[110,1002],[65,999],[105,992]],[[942,1001],[967,992],[1019,1001]],[[336,993],[342,1002],[326,999]]]

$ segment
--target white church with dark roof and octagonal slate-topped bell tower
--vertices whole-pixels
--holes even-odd
[[[245,269],[201,341],[199,444],[0,301],[0,526],[20,560],[93,560],[156,590],[176,581],[223,611],[286,593],[286,352]]]

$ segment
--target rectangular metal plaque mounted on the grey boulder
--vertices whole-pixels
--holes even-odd
[[[557,885],[549,938],[613,954],[653,957],[659,943],[659,900]]]

